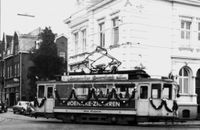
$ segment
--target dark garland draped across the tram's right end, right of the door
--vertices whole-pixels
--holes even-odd
[[[151,106],[155,109],[155,110],[160,110],[162,108],[162,106],[165,107],[165,109],[168,111],[168,112],[174,112],[174,111],[177,111],[178,110],[178,104],[177,102],[174,100],[173,101],[173,106],[172,106],[172,109],[170,109],[168,106],[167,106],[167,100],[166,99],[161,99],[161,103],[158,107],[156,107],[153,103],[153,99],[152,98],[149,98],[149,101],[150,101],[150,104]]]

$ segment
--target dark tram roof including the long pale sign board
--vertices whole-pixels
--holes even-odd
[[[172,82],[168,78],[151,78],[144,70],[125,70],[117,71],[115,74],[83,74],[70,73],[64,75],[59,81],[37,81],[39,84],[44,83],[99,83],[99,82]]]

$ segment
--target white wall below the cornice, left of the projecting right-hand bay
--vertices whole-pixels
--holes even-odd
[[[108,2],[97,9],[89,8],[86,12],[78,12],[74,18],[72,17],[70,23],[71,34],[82,28],[87,28],[86,51],[91,52],[95,50],[96,46],[100,45],[98,24],[105,22],[105,48],[110,51],[110,46],[113,45],[112,19],[119,17],[119,44],[121,46],[112,49],[110,53],[122,61],[120,69],[134,69],[140,62],[143,62],[142,64],[151,75],[168,75],[170,65],[167,63],[170,61],[169,52],[172,41],[172,11],[170,2],[162,0],[130,0],[129,2],[127,3],[126,0],[116,0]],[[165,15],[160,13],[160,10]],[[86,14],[83,14],[84,12]],[[81,17],[80,14],[84,17]],[[73,35],[71,35],[70,40],[69,56],[73,56],[75,54]],[[82,53],[80,48],[81,45],[78,47],[79,54]],[[84,58],[84,56],[82,58],[77,56],[74,59],[70,59],[69,62],[81,61]],[[158,64],[157,61],[162,62]],[[164,66],[165,69],[162,69],[160,66]],[[155,72],[160,73],[157,74]]]

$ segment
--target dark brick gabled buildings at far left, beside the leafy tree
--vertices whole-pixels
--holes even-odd
[[[27,78],[28,68],[33,65],[29,51],[37,46],[38,40],[38,34],[33,33],[3,36],[1,100],[8,106],[15,105],[19,100],[34,98],[30,97]]]

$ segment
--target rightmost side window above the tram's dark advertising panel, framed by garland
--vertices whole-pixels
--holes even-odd
[[[135,84],[115,84],[115,86],[120,98],[129,98],[134,90]]]

